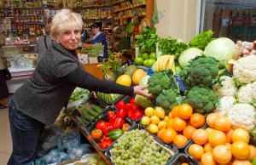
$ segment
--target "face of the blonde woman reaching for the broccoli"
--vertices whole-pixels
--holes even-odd
[[[75,50],[79,47],[81,32],[77,27],[70,27],[67,30],[61,31],[57,41],[67,50]]]

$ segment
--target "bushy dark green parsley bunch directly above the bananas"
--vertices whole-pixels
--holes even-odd
[[[172,54],[175,56],[175,59],[177,59],[178,55],[184,50],[189,48],[186,43],[179,42],[177,39],[172,38],[161,39],[159,46],[162,54]]]

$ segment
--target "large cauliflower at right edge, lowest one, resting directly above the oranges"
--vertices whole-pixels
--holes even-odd
[[[233,105],[228,112],[228,117],[232,123],[232,128],[243,128],[248,133],[252,133],[255,128],[256,118],[254,117],[256,109],[249,104]]]

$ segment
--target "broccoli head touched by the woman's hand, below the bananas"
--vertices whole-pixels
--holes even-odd
[[[170,88],[171,86],[171,78],[166,71],[154,73],[148,78],[148,93],[150,94],[158,95],[163,89]]]

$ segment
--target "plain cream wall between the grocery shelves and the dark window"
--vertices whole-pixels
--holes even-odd
[[[160,37],[180,38],[185,43],[195,37],[198,0],[157,0],[165,20],[155,25]]]

